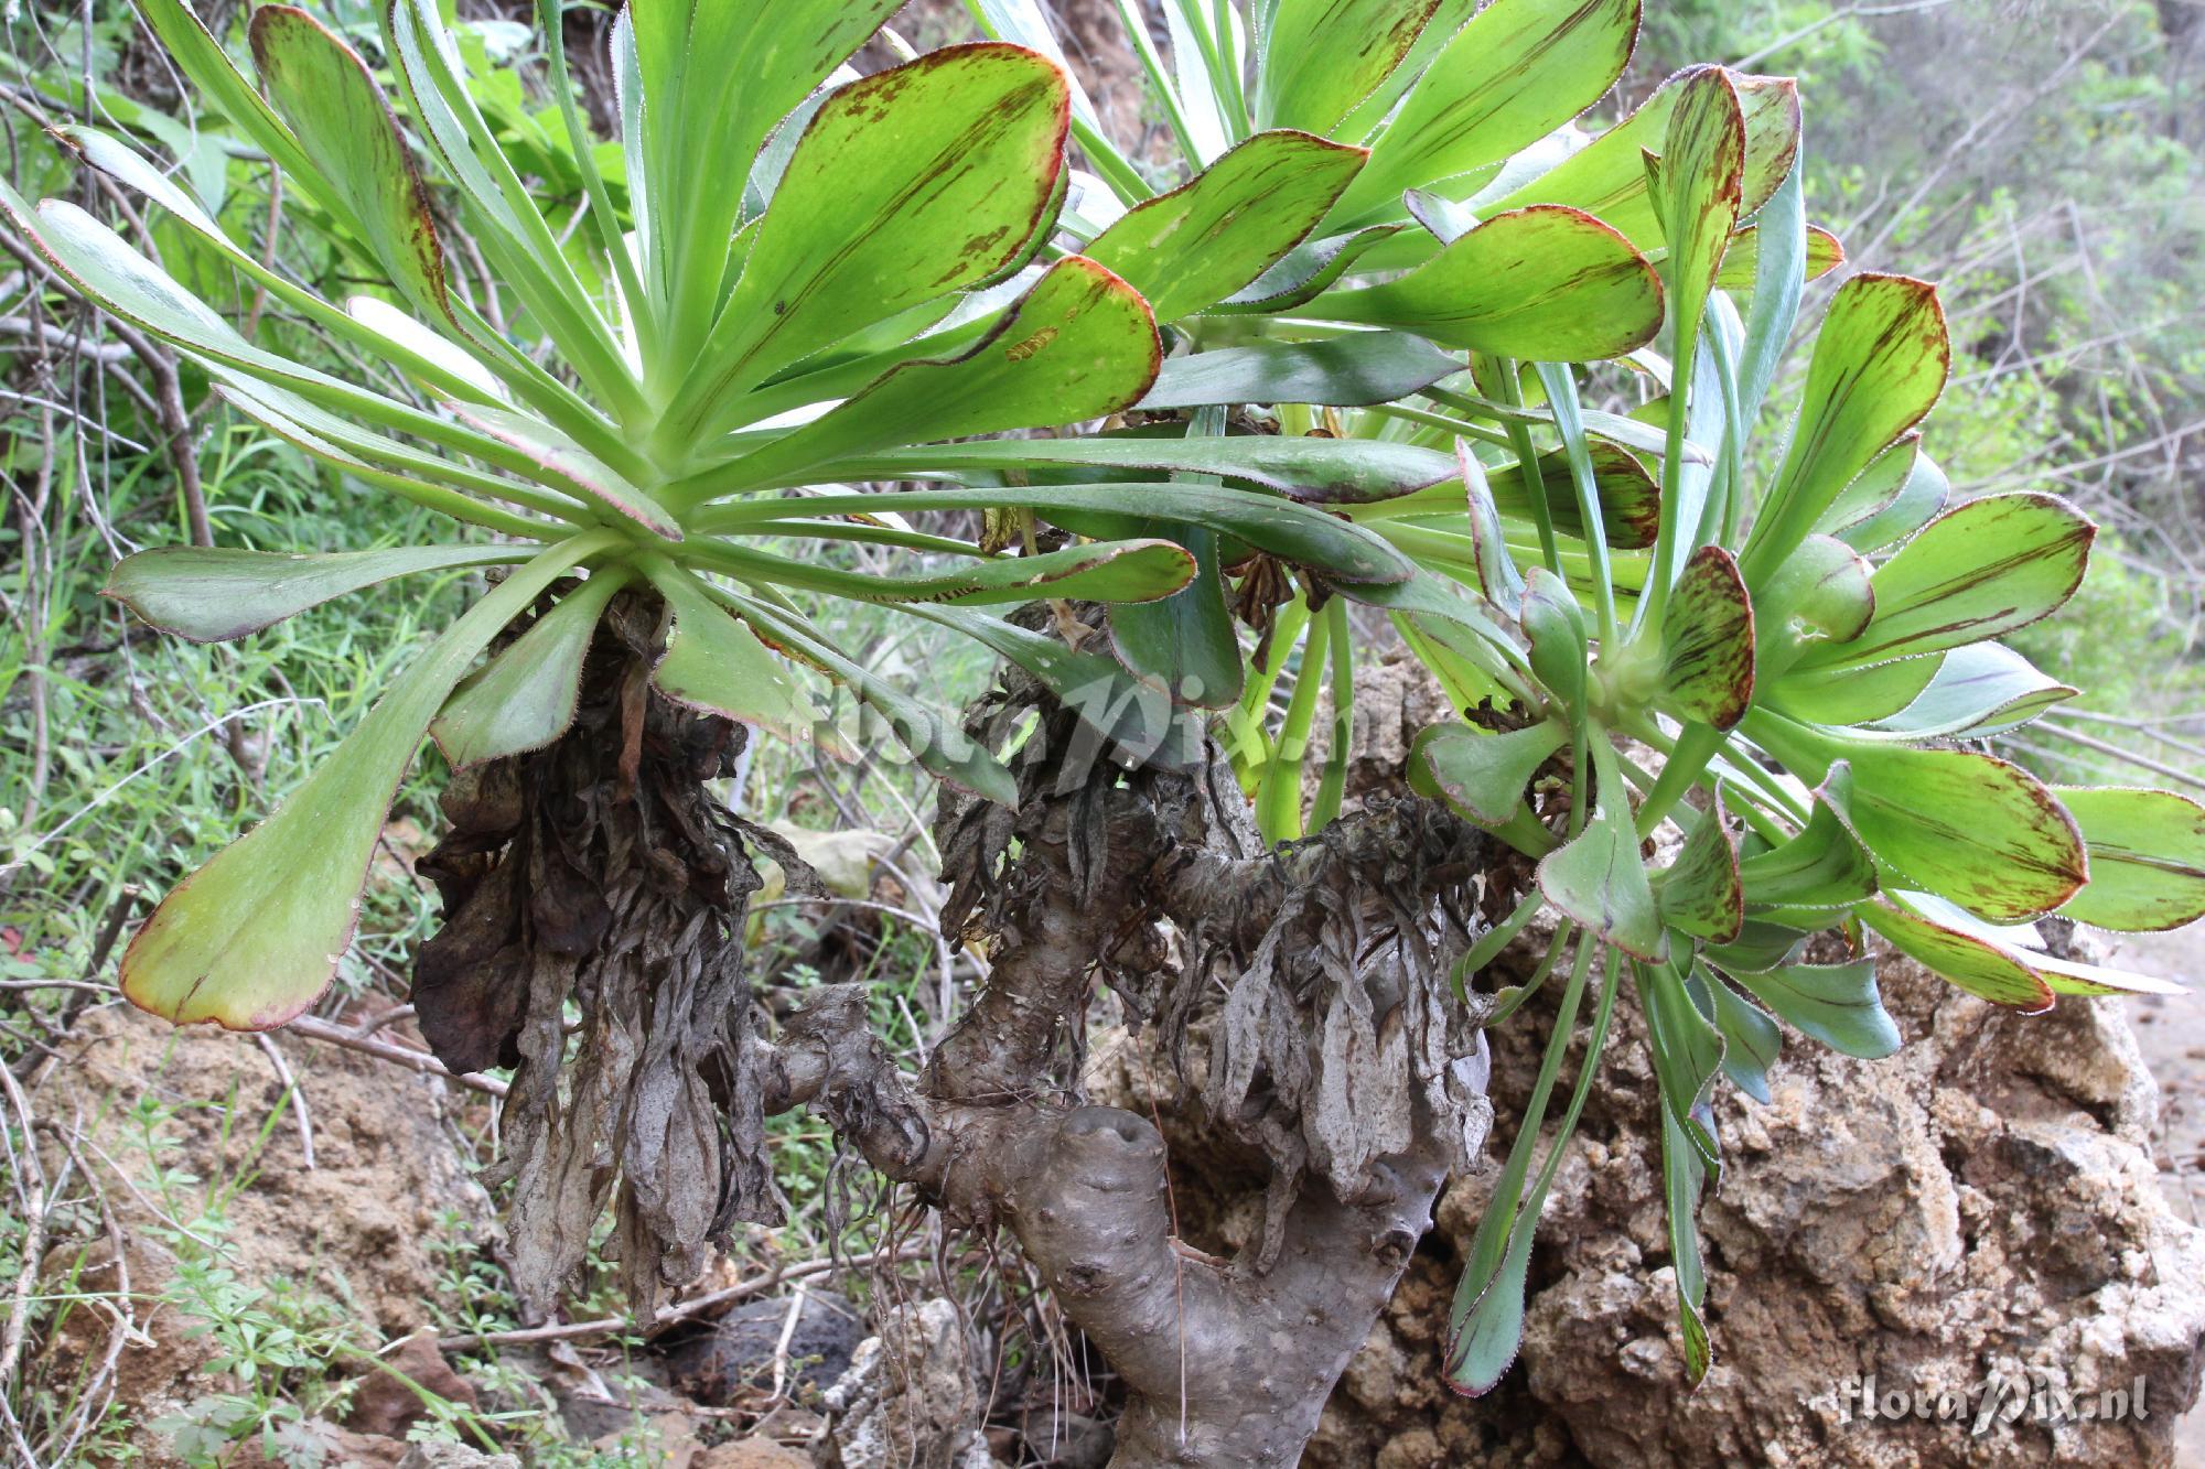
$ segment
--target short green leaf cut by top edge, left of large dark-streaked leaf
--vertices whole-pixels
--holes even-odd
[[[1394,75],[1438,2],[1277,0],[1261,26],[1257,124],[1330,135]]]

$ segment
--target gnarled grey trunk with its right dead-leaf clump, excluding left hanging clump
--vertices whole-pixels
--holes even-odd
[[[1380,801],[1266,854],[1219,798],[1222,770],[1098,772],[1076,792],[1047,770],[1030,768],[1019,856],[999,867],[999,816],[944,812],[946,858],[966,862],[959,889],[997,946],[919,1085],[845,986],[761,1046],[767,1109],[814,1105],[953,1222],[1012,1231],[1127,1387],[1120,1469],[1294,1465],[1449,1169],[1484,1143],[1484,1050],[1462,1030],[1449,1043],[1440,990],[1462,935],[1446,900],[1473,887],[1484,843],[1438,807]],[[966,840],[979,821],[992,836]],[[1155,942],[1160,924],[1175,944]],[[1147,1118],[1065,1096],[1098,973],[1182,1061],[1204,1023],[1191,1090],[1272,1167],[1246,1257],[1173,1237]]]

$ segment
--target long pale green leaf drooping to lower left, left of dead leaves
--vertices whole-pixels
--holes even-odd
[[[123,995],[179,1026],[269,1030],[329,986],[399,779],[452,684],[538,593],[613,532],[564,540],[470,607],[265,823],[185,878],[130,940]]]

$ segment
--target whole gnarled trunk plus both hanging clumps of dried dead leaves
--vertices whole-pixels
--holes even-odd
[[[1076,717],[1012,693],[975,730],[1039,710],[1019,814],[946,798],[937,827],[950,918],[990,940],[990,975],[913,1083],[858,986],[818,990],[772,1043],[752,1034],[739,942],[763,834],[706,787],[741,735],[648,693],[655,637],[655,607],[617,602],[573,730],[456,779],[426,862],[448,920],[419,962],[423,1030],[454,1070],[518,1063],[525,1306],[551,1308],[606,1204],[639,1304],[730,1222],[772,1218],[763,1118],[809,1107],[953,1224],[1017,1237],[1125,1383],[1118,1465],[1297,1462],[1449,1169],[1482,1145],[1482,1041],[1446,966],[1484,838],[1405,798],[1263,851],[1222,763],[1074,768],[1094,750]],[[1241,1259],[1175,1240],[1147,1118],[1080,1105],[1098,979],[1217,1134],[1268,1165]]]

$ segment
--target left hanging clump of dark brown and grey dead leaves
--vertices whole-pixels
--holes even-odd
[[[781,1211],[745,1046],[741,924],[759,876],[745,827],[706,787],[732,772],[743,728],[650,690],[657,637],[657,602],[617,598],[573,728],[459,772],[452,829],[421,862],[445,922],[417,959],[415,1010],[452,1070],[516,1068],[507,1266],[536,1319],[606,1207],[642,1310],[695,1279],[734,1222]]]

